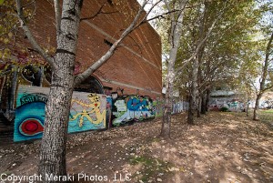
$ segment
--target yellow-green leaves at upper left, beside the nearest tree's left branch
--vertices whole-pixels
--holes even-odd
[[[27,65],[45,66],[45,61],[29,47],[25,33],[15,11],[15,1],[1,1],[0,3],[0,76],[12,72],[13,66],[24,67]],[[23,1],[26,21],[32,24],[35,15],[35,1]],[[54,54],[56,49],[47,45],[43,46],[46,53]]]

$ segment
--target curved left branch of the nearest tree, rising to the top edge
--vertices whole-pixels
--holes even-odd
[[[25,21],[25,16],[24,16],[24,13],[23,13],[23,7],[22,7],[22,4],[21,4],[21,0],[15,0],[15,2],[16,2],[17,14],[18,14],[20,23],[21,23],[21,25],[22,25],[22,27],[24,29],[25,36],[27,36],[30,44],[34,47],[34,49],[41,56],[43,56],[45,58],[46,62],[48,62],[50,64],[50,66],[52,67],[52,69],[56,69],[57,66],[56,66],[54,58],[52,56],[50,56],[50,55],[47,55],[45,53],[45,51],[42,49],[42,47],[38,45],[38,43],[35,40],[35,37],[32,35],[30,29],[26,25],[26,21]]]

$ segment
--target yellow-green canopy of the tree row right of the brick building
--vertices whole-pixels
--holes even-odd
[[[184,16],[176,67],[184,66],[184,61],[192,56],[219,12],[223,11],[207,43],[198,54],[198,85],[201,88],[211,88],[225,84],[230,88],[240,87],[247,93],[252,93],[251,82],[260,73],[261,63],[257,60],[261,60],[264,46],[255,38],[260,35],[258,25],[264,16],[263,12],[270,9],[270,3],[258,6],[254,0],[243,0],[239,3],[236,0],[202,2],[188,1],[187,6],[190,8],[187,8]],[[163,37],[163,52],[169,47],[167,21],[169,20],[164,19],[158,23],[161,26],[159,34]],[[189,63],[177,73],[176,86],[184,95],[187,95],[191,83],[191,70],[192,64]],[[271,77],[269,75],[270,79]]]

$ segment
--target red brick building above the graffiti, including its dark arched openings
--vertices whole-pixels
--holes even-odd
[[[29,23],[33,35],[41,46],[55,47],[53,1],[36,0],[35,8],[35,16]],[[76,72],[83,72],[87,66],[91,66],[106,54],[111,44],[131,23],[138,8],[139,4],[136,0],[84,1],[78,34]],[[100,14],[97,14],[99,10]],[[23,38],[23,42],[25,46],[31,48],[26,38]],[[0,69],[3,68],[4,66],[1,65]],[[33,86],[49,86],[50,83],[50,72],[48,72],[50,69],[44,72],[44,68],[38,67],[35,70],[32,65],[19,70],[12,67],[9,69],[9,72],[5,72],[8,73],[7,75],[0,75],[0,125],[2,114],[5,114],[5,117],[13,116],[10,112],[15,110],[16,88],[19,83]],[[76,90],[105,94],[117,92],[120,95],[137,94],[156,98],[161,96],[161,69],[160,36],[151,25],[146,23],[127,36],[114,56]]]

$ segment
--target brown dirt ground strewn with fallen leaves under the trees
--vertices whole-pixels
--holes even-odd
[[[210,112],[188,126],[180,114],[169,140],[158,137],[160,123],[70,135],[72,182],[273,182],[273,131],[262,122]],[[0,146],[0,174],[35,174],[38,148],[39,141]]]

